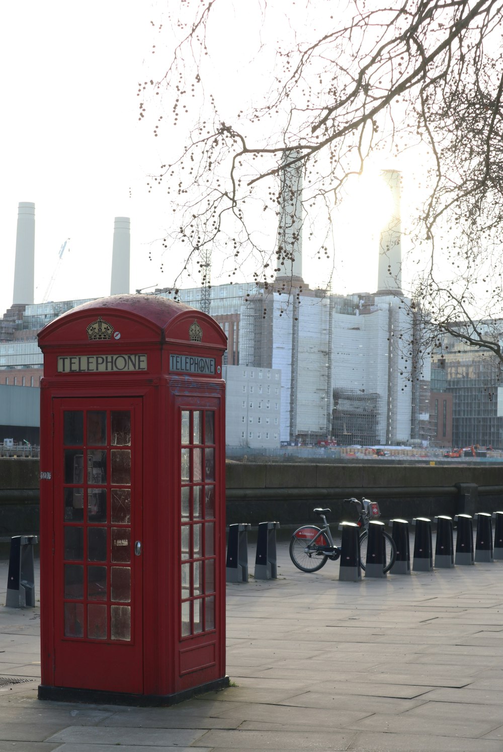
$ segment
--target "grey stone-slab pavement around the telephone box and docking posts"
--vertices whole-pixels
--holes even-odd
[[[278,563],[227,587],[236,686],[171,708],[36,699],[39,611],[3,606],[0,563],[0,752],[503,752],[503,562],[361,583],[283,543]]]

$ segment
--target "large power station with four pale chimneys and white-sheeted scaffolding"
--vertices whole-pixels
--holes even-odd
[[[414,372],[408,354],[414,322],[401,293],[400,175],[385,171],[383,176],[394,211],[380,236],[376,293],[338,296],[311,290],[303,280],[301,171],[295,165],[286,168],[282,180],[277,235],[282,271],[274,284],[223,284],[177,293],[193,308],[204,305],[227,335],[229,445],[428,440],[429,370],[427,365]],[[35,206],[20,204],[23,265],[16,265],[14,290],[21,292],[0,323],[0,384],[36,385],[42,365],[37,332],[83,302],[33,303],[31,277],[22,280],[34,263],[34,223]],[[129,218],[116,217],[111,293],[126,292]],[[167,289],[153,294],[172,295]]]

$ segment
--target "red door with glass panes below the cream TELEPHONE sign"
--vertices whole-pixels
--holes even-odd
[[[141,408],[53,399],[56,686],[143,690]]]

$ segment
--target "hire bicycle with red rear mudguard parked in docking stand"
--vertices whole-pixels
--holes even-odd
[[[360,566],[365,571],[365,562],[367,560],[368,544],[368,523],[371,519],[380,517],[380,509],[377,502],[371,502],[369,499],[362,499],[359,502],[354,497],[344,499],[347,504],[354,504],[358,512],[357,525],[364,530],[359,536],[360,544]],[[301,572],[318,572],[326,562],[331,559],[337,561],[341,556],[341,548],[334,544],[332,533],[330,532],[329,523],[326,521],[326,514],[331,509],[314,509],[314,514],[321,517],[323,528],[314,525],[304,525],[299,527],[292,535],[290,541],[290,559]],[[395,563],[396,546],[391,535],[383,530],[383,550],[384,566],[383,572],[389,572]]]

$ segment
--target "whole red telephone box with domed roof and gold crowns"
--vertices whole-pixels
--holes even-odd
[[[226,336],[131,295],[38,341],[38,696],[168,705],[226,686]]]

